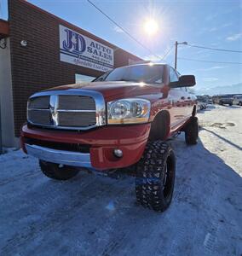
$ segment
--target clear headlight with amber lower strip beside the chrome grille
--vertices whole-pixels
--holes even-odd
[[[144,99],[128,98],[107,103],[107,123],[146,123],[150,116],[151,103]]]

